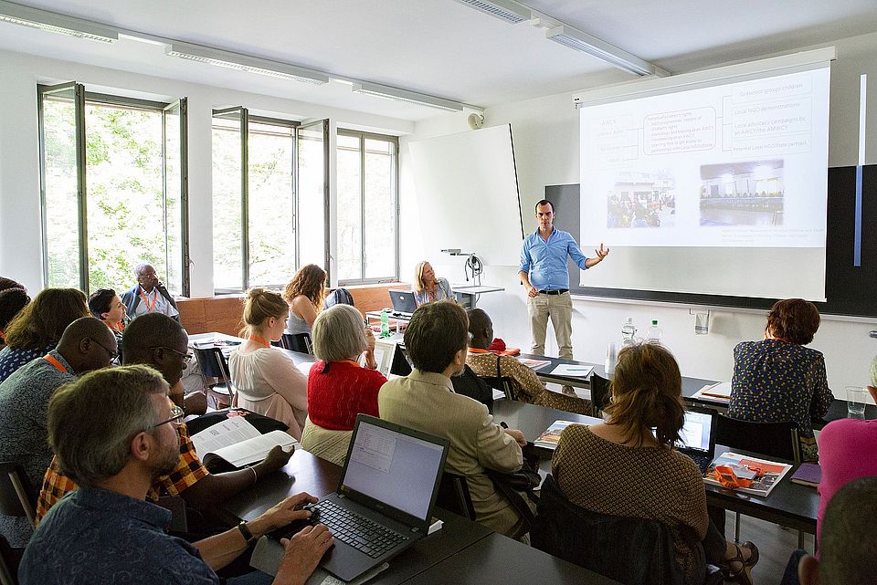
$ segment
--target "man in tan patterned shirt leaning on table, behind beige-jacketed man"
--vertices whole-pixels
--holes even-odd
[[[539,404],[569,413],[591,413],[590,401],[577,396],[551,392],[545,388],[542,381],[539,381],[536,373],[520,361],[512,356],[495,355],[488,351],[493,340],[493,323],[481,308],[470,309],[469,332],[472,334],[472,339],[469,343],[466,363],[479,376],[510,378],[515,398],[521,402]]]

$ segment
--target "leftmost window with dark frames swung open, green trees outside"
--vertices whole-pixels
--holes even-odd
[[[38,87],[44,280],[132,285],[149,262],[188,293],[185,99],[174,104]]]

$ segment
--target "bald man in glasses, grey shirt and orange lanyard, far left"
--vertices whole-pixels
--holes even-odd
[[[110,367],[116,340],[98,319],[76,319],[64,329],[58,347],[31,360],[0,384],[0,461],[21,465],[36,490],[52,460],[47,442],[48,399],[87,371]],[[0,516],[0,533],[13,547],[24,547],[33,532],[25,517]]]

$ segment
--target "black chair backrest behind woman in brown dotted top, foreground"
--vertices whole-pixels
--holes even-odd
[[[534,548],[620,583],[685,582],[675,562],[670,527],[657,520],[608,516],[578,507],[566,499],[551,475],[542,485],[530,538]],[[703,547],[691,544],[705,568]]]

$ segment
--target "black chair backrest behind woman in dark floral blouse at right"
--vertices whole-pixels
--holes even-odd
[[[801,461],[798,425],[791,421],[753,423],[719,413],[715,424],[715,443],[795,463]]]

